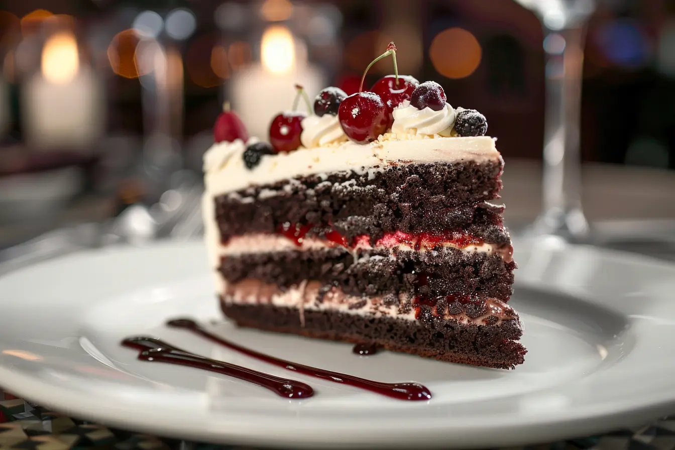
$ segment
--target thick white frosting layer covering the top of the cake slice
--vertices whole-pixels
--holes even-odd
[[[204,157],[207,192],[215,196],[252,185],[272,184],[306,175],[323,177],[340,171],[374,177],[375,173],[396,165],[463,161],[485,163],[501,159],[495,140],[488,136],[396,136],[395,140],[383,136],[381,140],[365,145],[343,142],[333,146],[300,148],[290,153],[265,155],[253,169],[244,165],[242,154],[246,145],[257,142],[257,139],[252,138],[247,143],[241,140],[220,142],[211,146]]]

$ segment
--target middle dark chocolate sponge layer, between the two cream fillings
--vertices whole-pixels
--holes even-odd
[[[355,259],[356,257],[356,259]],[[508,301],[514,262],[498,254],[465,253],[454,248],[427,252],[344,248],[285,250],[225,256],[219,271],[229,283],[258,279],[280,287],[304,280],[353,296],[414,292],[432,297],[456,294]]]

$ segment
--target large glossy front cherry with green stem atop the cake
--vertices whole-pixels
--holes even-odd
[[[387,45],[387,51],[375,58],[368,67],[361,78],[361,85],[359,92],[348,96],[340,103],[338,109],[338,119],[344,134],[350,140],[358,144],[367,144],[373,142],[379,135],[387,131],[389,125],[389,111],[382,98],[375,94],[375,92],[362,92],[363,82],[366,78],[368,70],[373,67],[380,59],[394,55],[394,74],[395,80],[398,79],[398,68],[396,67],[396,45],[393,42]]]

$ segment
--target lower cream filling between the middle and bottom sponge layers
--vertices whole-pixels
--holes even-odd
[[[384,298],[380,297],[366,299],[348,296],[340,289],[334,287],[331,291],[325,293],[321,301],[319,301],[320,287],[321,283],[311,281],[291,287],[290,289],[281,290],[276,285],[249,279],[228,285],[224,292],[224,301],[225,303],[239,305],[269,304],[286,308],[298,308],[300,320],[302,320],[302,313],[307,310],[331,310],[372,318],[392,317],[410,321],[417,320],[414,298],[407,293],[401,293],[398,299],[394,297],[385,301]],[[490,321],[493,325],[499,325],[504,320],[518,318],[513,308],[495,298],[489,298],[485,301],[485,312],[477,317],[469,317],[466,312],[450,314],[447,307],[444,311],[437,312],[439,314],[442,313],[445,320],[456,320],[464,325],[488,325],[487,318],[490,316],[497,318],[496,321]]]

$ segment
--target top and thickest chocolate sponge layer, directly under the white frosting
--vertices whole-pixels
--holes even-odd
[[[223,240],[282,223],[338,225],[348,236],[501,225],[502,211],[484,202],[499,198],[502,167],[466,161],[309,175],[216,196],[215,216]]]

